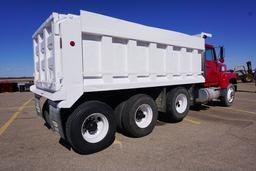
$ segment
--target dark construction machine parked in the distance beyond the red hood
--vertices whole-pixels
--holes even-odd
[[[245,66],[240,65],[234,68],[234,72],[238,74],[238,80],[241,80],[243,83],[253,82],[253,72],[252,72],[252,63],[251,61],[246,62],[247,69]]]

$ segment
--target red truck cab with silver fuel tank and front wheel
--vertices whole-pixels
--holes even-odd
[[[202,64],[204,65],[205,82],[198,87],[195,104],[220,100],[223,106],[231,106],[237,89],[237,74],[227,71],[224,64],[224,47],[220,46],[219,55],[213,45],[205,45]]]

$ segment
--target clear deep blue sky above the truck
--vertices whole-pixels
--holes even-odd
[[[0,2],[0,77],[32,76],[31,36],[54,11],[88,10],[141,24],[198,34],[224,45],[228,68],[251,60],[256,67],[256,1],[253,0],[24,0]]]

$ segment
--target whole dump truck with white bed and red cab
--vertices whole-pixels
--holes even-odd
[[[116,128],[148,135],[158,111],[178,122],[193,104],[230,106],[237,76],[227,72],[224,48],[218,58],[206,37],[87,11],[53,13],[33,35],[36,111],[89,154],[108,147]]]

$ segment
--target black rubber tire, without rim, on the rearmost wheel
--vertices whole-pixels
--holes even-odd
[[[103,114],[109,122],[107,135],[97,143],[87,142],[81,134],[83,121],[92,113]],[[66,122],[66,137],[73,150],[79,154],[92,154],[112,144],[115,139],[116,124],[113,110],[100,101],[88,101],[78,106]]]

